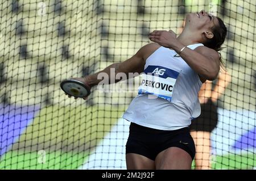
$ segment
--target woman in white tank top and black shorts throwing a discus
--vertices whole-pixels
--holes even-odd
[[[127,169],[191,169],[195,144],[188,127],[200,115],[202,83],[218,75],[217,51],[227,30],[220,18],[204,10],[187,14],[185,21],[179,37],[173,31],[153,31],[149,39],[154,43],[144,45],[128,60],[73,78],[92,87],[102,81],[98,74],[110,75],[113,69],[115,74],[143,73],[139,95],[123,114],[131,122]]]

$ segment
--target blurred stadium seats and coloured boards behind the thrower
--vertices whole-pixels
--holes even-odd
[[[0,1],[0,169],[125,169],[130,92],[68,99],[61,80],[132,56],[148,32],[180,32],[185,12],[215,9],[232,75],[218,100],[213,169],[256,167],[255,1]],[[139,77],[135,78],[138,85]],[[127,85],[127,82],[122,82]],[[120,85],[118,85],[120,86]]]

